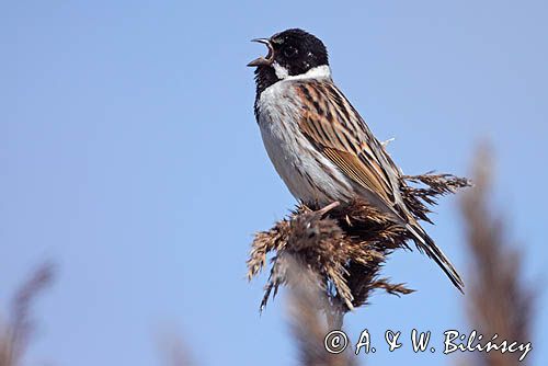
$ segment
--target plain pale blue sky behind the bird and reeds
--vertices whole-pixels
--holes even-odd
[[[28,364],[157,365],[167,329],[202,365],[296,363],[283,297],[259,317],[265,277],[244,279],[252,233],[294,204],[264,152],[246,67],[265,53],[250,38],[287,27],[324,41],[335,81],[379,139],[396,137],[407,173],[466,174],[489,138],[495,204],[527,278],[545,284],[547,12],[500,0],[2,2],[0,309],[33,265],[59,264]],[[465,271],[456,199],[437,213],[430,232]],[[353,339],[418,328],[441,345],[444,330],[468,330],[466,297],[433,262],[398,253],[385,273],[419,291],[374,296],[346,318]],[[370,363],[449,358],[408,344]]]

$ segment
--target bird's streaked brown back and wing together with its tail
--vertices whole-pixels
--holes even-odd
[[[295,88],[305,112],[299,121],[301,133],[346,176],[404,220],[416,247],[434,259],[461,290],[464,283],[457,271],[403,203],[398,167],[359,114],[330,81],[299,81]]]

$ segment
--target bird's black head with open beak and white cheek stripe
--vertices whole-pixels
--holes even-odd
[[[259,89],[265,89],[289,76],[302,75],[318,66],[329,66],[328,50],[310,33],[294,28],[276,33],[270,38],[258,38],[269,47],[266,57],[259,57],[248,66],[256,67]]]

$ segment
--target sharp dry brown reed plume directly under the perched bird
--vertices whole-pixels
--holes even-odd
[[[449,174],[426,173],[404,176],[400,185],[412,214],[431,222],[427,205],[434,205],[441,195],[468,186],[469,182]],[[378,277],[386,256],[396,249],[409,249],[410,239],[401,226],[365,202],[334,203],[316,210],[299,205],[288,218],[255,235],[248,277],[251,279],[261,272],[266,255],[274,252],[262,310],[271,293],[275,296],[279,285],[287,283],[288,261],[294,259],[316,274],[317,286],[330,305],[326,309],[328,318],[333,328],[340,328],[343,314],[366,304],[372,290],[384,289],[396,295],[412,291],[403,284]]]

